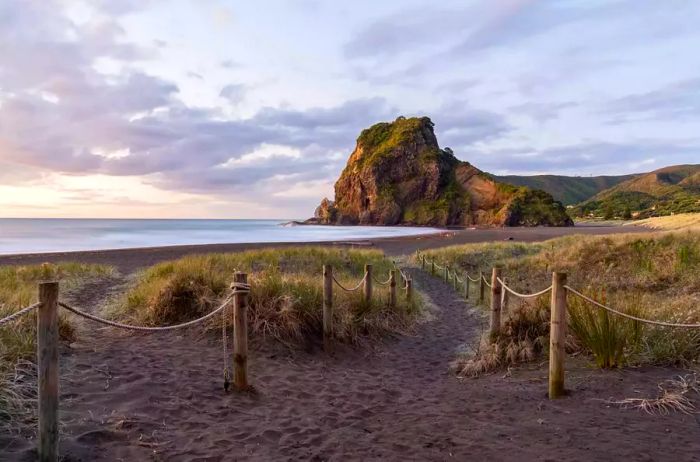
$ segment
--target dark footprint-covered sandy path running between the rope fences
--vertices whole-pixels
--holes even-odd
[[[447,366],[478,336],[481,316],[439,280],[413,273],[439,307],[415,336],[368,356],[260,347],[250,364],[257,395],[223,393],[217,339],[85,333],[64,355],[70,436],[62,453],[85,461],[700,457],[698,418],[650,417],[598,400],[653,394],[668,369],[575,370],[572,396],[556,402],[546,399],[537,367],[457,380]]]

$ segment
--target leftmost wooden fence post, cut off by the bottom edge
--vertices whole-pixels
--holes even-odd
[[[37,370],[41,462],[58,460],[58,282],[39,283]]]

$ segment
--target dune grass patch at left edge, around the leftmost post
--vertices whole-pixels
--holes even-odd
[[[37,301],[37,284],[61,281],[62,289],[76,289],[87,278],[104,276],[111,267],[58,263],[0,267],[0,318]],[[74,328],[59,313],[61,340],[74,338]],[[0,431],[20,431],[34,421],[36,394],[36,312],[0,326]]]

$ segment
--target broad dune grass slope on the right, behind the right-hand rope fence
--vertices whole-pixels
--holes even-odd
[[[547,287],[552,271],[566,272],[571,286],[629,314],[679,323],[700,322],[700,233],[696,232],[567,236],[533,244],[468,244],[425,254],[472,274],[490,273],[493,266],[501,266],[509,285],[521,292]],[[479,354],[458,362],[466,375],[545,352],[548,296],[534,303],[511,297],[509,308],[496,345],[485,344]],[[700,359],[698,329],[655,327],[622,319],[574,296],[569,297],[569,337],[570,352],[591,353],[605,368],[648,363],[689,365]]]

